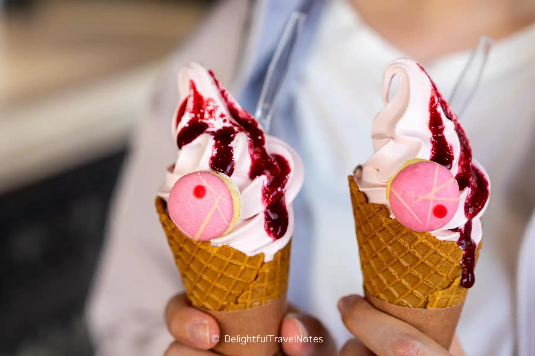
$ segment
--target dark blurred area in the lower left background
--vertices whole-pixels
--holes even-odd
[[[123,157],[0,197],[0,355],[92,353],[82,310]]]

